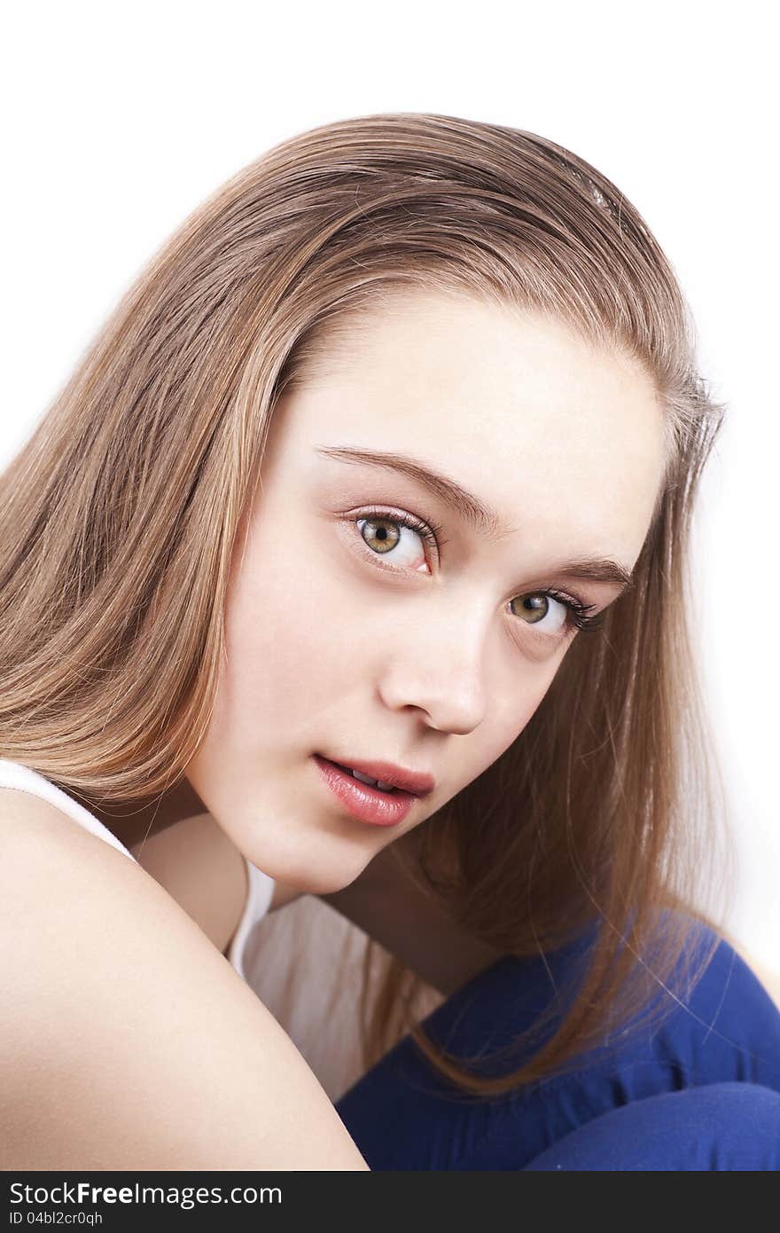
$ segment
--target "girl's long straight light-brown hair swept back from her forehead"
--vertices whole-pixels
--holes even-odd
[[[607,1023],[684,1000],[717,946],[690,944],[693,917],[707,920],[695,903],[726,868],[688,570],[723,407],[696,371],[669,261],[582,158],[455,116],[365,116],[272,148],[184,222],[1,476],[0,756],[96,804],[182,779],[211,716],[237,529],[276,401],[340,330],[414,287],[562,319],[637,358],[664,407],[664,483],[632,587],[574,640],[505,753],[393,845],[503,953],[546,954],[590,930],[577,996],[531,1060],[488,1078],[428,1037],[398,961],[370,1005],[367,943],[366,1065],[409,1030],[484,1097],[566,1069]]]

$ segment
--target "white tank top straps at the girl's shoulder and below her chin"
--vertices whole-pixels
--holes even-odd
[[[124,847],[123,843],[112,835],[107,826],[104,826],[94,814],[90,814],[84,805],[80,805],[78,800],[69,797],[67,792],[58,788],[57,784],[52,783],[44,776],[39,774],[37,771],[32,771],[30,767],[22,766],[21,762],[9,762],[7,758],[0,758],[0,788],[16,788],[18,792],[28,792],[33,797],[41,797],[42,800],[47,800],[51,805],[55,805],[57,809],[62,809],[63,814],[68,814],[73,817],[74,822],[83,826],[84,830],[91,831],[97,838],[105,840],[106,843],[111,843],[112,847],[123,852],[126,857],[131,861],[136,861],[132,852]],[[228,951],[228,959],[239,977],[246,980],[246,973],[244,970],[244,948],[246,938],[253,928],[253,926],[266,915],[269,907],[271,906],[271,900],[274,898],[275,879],[259,869],[256,864],[248,861],[244,857],[244,863],[246,864],[246,874],[249,878],[249,893],[246,895],[246,903],[244,905],[244,912],[235,933],[233,935],[233,941],[230,942],[230,948]],[[136,861],[136,864],[138,862]]]

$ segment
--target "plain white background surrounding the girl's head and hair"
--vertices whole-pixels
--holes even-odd
[[[728,420],[697,524],[696,621],[738,840],[732,933],[780,972],[769,5],[15,6],[0,466],[140,266],[276,142],[378,111],[541,133],[612,179],[669,255]]]

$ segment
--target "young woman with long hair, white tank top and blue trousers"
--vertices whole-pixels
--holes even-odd
[[[328,125],[182,224],[0,485],[6,1169],[778,1166],[695,907],[722,409],[535,134]],[[298,894],[393,957],[335,1107],[240,979]]]

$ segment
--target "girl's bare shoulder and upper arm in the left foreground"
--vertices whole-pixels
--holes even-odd
[[[367,1165],[293,1042],[111,845],[0,790],[0,1168]]]

